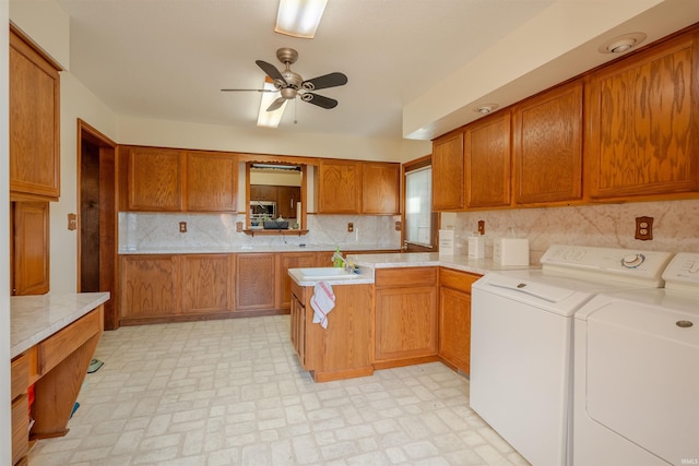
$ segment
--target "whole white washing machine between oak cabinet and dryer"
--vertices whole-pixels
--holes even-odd
[[[573,314],[602,291],[662,286],[668,252],[552,246],[541,270],[473,285],[471,407],[534,465],[568,465]]]

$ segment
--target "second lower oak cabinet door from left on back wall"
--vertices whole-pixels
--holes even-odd
[[[182,313],[230,312],[234,303],[233,254],[181,258]]]

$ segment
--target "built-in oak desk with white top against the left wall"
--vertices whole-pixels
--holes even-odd
[[[12,462],[26,461],[29,439],[68,433],[90,361],[104,330],[108,292],[12,297]],[[29,396],[34,403],[29,430]]]

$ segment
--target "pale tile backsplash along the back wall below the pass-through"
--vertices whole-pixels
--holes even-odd
[[[341,249],[398,249],[401,232],[395,231],[400,216],[308,215],[308,234],[303,236],[249,236],[236,231],[245,224],[245,214],[119,213],[119,250],[158,249],[226,250],[241,247],[340,246]],[[179,232],[180,222],[187,232]],[[353,231],[347,231],[347,223]]]

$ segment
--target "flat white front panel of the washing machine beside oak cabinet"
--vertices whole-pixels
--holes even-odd
[[[562,465],[572,319],[474,286],[471,407],[534,465]]]

